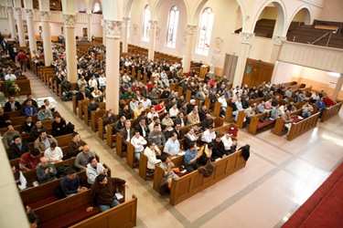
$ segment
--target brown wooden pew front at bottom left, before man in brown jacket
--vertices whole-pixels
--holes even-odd
[[[123,202],[106,212],[98,213],[85,219],[80,223],[70,226],[70,228],[98,228],[98,227],[135,227],[137,220],[137,197],[133,195],[133,199],[128,202]]]

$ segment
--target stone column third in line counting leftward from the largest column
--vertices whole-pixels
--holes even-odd
[[[40,21],[43,29],[43,48],[45,66],[50,66],[52,61],[51,36],[50,36],[50,12],[39,11]]]

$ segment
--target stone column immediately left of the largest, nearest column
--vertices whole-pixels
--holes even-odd
[[[75,25],[78,20],[76,15],[63,15],[65,35],[68,79],[71,83],[78,82],[78,69],[76,59]]]

